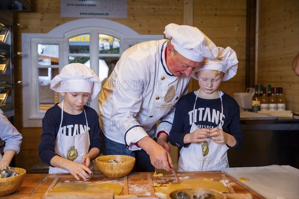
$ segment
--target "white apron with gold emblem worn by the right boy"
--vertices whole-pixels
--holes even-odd
[[[222,92],[219,92],[221,100],[221,114],[223,114],[222,106]],[[193,112],[198,97],[194,102]],[[195,121],[193,119],[193,121]],[[218,128],[222,130],[221,120]],[[190,133],[198,129],[193,122]],[[207,147],[208,145],[208,147]],[[229,148],[224,144],[217,144],[211,138],[205,138],[203,143],[191,143],[188,147],[183,147],[180,150],[180,157],[178,160],[178,171],[220,171],[222,168],[228,168],[227,150]]]

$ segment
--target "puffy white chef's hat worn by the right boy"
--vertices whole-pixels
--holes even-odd
[[[195,74],[198,71],[202,70],[216,70],[224,73],[222,81],[227,81],[233,78],[237,74],[238,69],[238,59],[236,52],[231,49],[231,47],[222,48],[218,47],[219,53],[217,59],[208,59],[203,60],[200,67],[197,67],[192,72],[191,76],[194,79],[198,79]]]

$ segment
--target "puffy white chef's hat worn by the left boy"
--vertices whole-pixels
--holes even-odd
[[[87,66],[80,63],[68,64],[59,75],[51,80],[51,89],[58,93],[90,93],[89,100],[94,100],[101,90],[100,78]]]

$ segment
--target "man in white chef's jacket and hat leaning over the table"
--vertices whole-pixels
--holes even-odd
[[[175,103],[187,93],[194,68],[218,54],[196,27],[171,23],[164,34],[168,40],[126,50],[99,95],[103,153],[135,157],[136,172],[172,168],[167,141]]]

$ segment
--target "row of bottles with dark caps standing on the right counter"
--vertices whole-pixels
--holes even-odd
[[[255,85],[255,94],[252,97],[252,111],[259,110],[286,110],[286,100],[283,96],[283,88],[271,88],[268,85],[268,94],[266,88],[260,85],[260,93],[258,92],[258,85]]]

